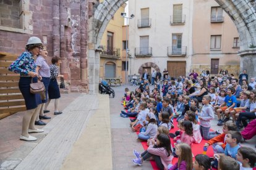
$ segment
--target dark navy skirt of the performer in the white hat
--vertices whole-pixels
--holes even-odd
[[[42,103],[40,94],[30,93],[31,77],[20,77],[19,89],[25,100],[27,110],[36,108]],[[33,83],[37,83],[37,77],[33,78]]]

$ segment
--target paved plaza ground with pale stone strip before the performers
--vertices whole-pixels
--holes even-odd
[[[152,169],[149,161],[143,166],[131,161],[132,150],[143,152],[143,147],[130,130],[129,118],[119,116],[125,87],[113,87],[115,98],[62,94],[60,110],[64,113],[54,116],[52,102],[48,113],[52,119],[44,120],[46,126],[38,126],[45,132],[33,134],[38,138],[35,142],[19,140],[24,112],[1,119],[0,169]],[[134,86],[127,87],[135,90]],[[221,131],[222,126],[216,124],[216,119],[211,121],[211,127]],[[255,143],[256,137],[242,145],[255,149]]]

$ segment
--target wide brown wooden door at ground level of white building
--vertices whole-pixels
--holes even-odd
[[[186,62],[167,62],[169,76],[177,78],[186,76]]]

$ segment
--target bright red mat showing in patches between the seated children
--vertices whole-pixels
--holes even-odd
[[[174,119],[173,121],[174,121],[174,129],[171,129],[169,131],[170,133],[175,133],[178,130],[176,119]],[[137,132],[137,134],[139,134],[139,132]],[[197,155],[197,154],[202,154],[203,153],[203,145],[205,145],[206,142],[207,142],[207,140],[202,139],[200,144],[192,144],[192,153],[194,154],[194,156]],[[142,143],[142,146],[143,146],[144,150],[147,150],[147,148],[148,148],[147,142],[141,142],[141,143]],[[173,139],[171,139],[171,144],[174,147]],[[207,155],[209,157],[213,156],[213,148],[212,147],[208,147]],[[194,160],[194,158],[193,158],[193,160]],[[178,161],[178,158],[173,158],[172,164],[177,163],[177,161]],[[155,161],[150,161],[150,163],[151,163],[151,166],[154,170],[158,169],[158,167],[156,166]]]

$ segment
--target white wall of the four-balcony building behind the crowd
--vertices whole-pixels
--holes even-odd
[[[164,2],[163,2],[164,1]],[[187,72],[190,70],[192,54],[192,14],[193,1],[187,0],[129,0],[129,14],[135,17],[129,20],[129,74],[137,74],[139,67],[146,62],[158,65],[162,72],[167,68],[168,61],[186,61]],[[170,25],[173,15],[173,4],[182,4],[182,14],[186,15],[184,25]],[[138,28],[141,19],[140,9],[149,8],[151,18],[150,28]],[[172,46],[172,34],[182,34],[182,46],[187,46],[186,57],[168,57],[168,46]],[[140,47],[140,36],[149,36],[149,47],[152,47],[152,57],[135,57],[135,47]]]

